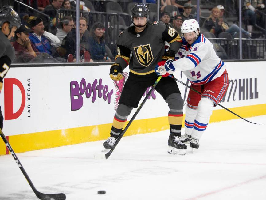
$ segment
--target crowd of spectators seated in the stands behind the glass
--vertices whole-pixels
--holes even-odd
[[[9,0],[7,2],[12,2]],[[88,3],[90,2],[90,3]],[[98,2],[98,1],[97,1]],[[111,12],[112,6],[119,4],[97,4],[95,1],[80,1],[80,12]],[[131,25],[130,20],[130,5],[133,7],[135,2],[123,4],[118,14],[117,23],[119,23],[119,32]],[[193,1],[194,3],[196,1]],[[217,3],[219,1],[216,1]],[[223,3],[224,1],[220,1]],[[108,44],[115,44],[111,36],[106,34],[108,29],[114,28],[114,21],[109,21],[108,26],[102,20],[97,21],[89,15],[83,14],[80,17],[79,25],[75,25],[76,9],[75,0],[23,0],[28,6],[44,13],[50,17],[47,19],[38,12],[34,14],[32,10],[24,8],[23,5],[18,6],[12,4],[14,9],[19,9],[17,12],[22,19],[22,26],[16,30],[14,37],[11,38],[15,53],[16,63],[27,62],[75,62],[76,61],[76,28],[79,28],[80,34],[80,62],[112,62],[116,51]],[[116,4],[114,4],[116,3]],[[157,21],[155,6],[157,1],[146,1],[150,8],[151,21]],[[18,8],[19,7],[19,8]],[[115,7],[117,8],[117,6]],[[128,9],[129,8],[129,9]],[[58,10],[63,9],[63,17],[58,17]],[[109,10],[108,10],[109,9]],[[252,29],[256,27],[264,27],[265,5],[261,0],[243,0],[242,14],[245,19],[246,26],[240,29],[239,25],[233,21],[228,21],[226,18],[226,9],[222,4],[213,5],[209,8],[209,17],[201,16],[200,9],[200,28],[201,33],[210,32],[214,37],[219,37],[220,33],[227,32],[232,38],[237,36],[240,31],[244,38],[254,38]],[[116,11],[116,10],[115,10]],[[113,12],[115,12],[113,11]],[[180,27],[186,19],[196,19],[197,8],[192,4],[192,1],[177,1],[177,0],[161,0],[160,1],[160,21],[174,28],[181,35]],[[93,22],[93,23],[92,23]],[[107,23],[107,22],[106,22]],[[108,42],[107,42],[108,41]]]

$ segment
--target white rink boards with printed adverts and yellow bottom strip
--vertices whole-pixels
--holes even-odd
[[[266,62],[225,64],[229,88],[220,104],[242,117],[266,115]],[[124,70],[125,78],[115,82],[109,77],[109,68],[109,65],[10,68],[4,79],[0,105],[5,119],[3,132],[14,151],[106,139],[129,72],[128,68]],[[184,74],[175,77],[189,84]],[[178,86],[186,102],[188,89],[179,83]],[[128,119],[134,112],[135,109]],[[169,128],[167,115],[168,106],[155,91],[125,136],[166,130]],[[210,122],[236,118],[217,106]],[[4,142],[0,142],[0,155],[7,153]]]

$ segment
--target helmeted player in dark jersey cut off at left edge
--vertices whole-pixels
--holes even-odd
[[[3,87],[3,79],[13,60],[15,59],[15,51],[8,35],[14,35],[17,28],[20,27],[21,21],[18,13],[12,8],[0,8],[0,92]],[[14,28],[13,28],[14,27]],[[3,128],[3,116],[0,107],[0,128]]]

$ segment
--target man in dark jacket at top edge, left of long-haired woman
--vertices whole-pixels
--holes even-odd
[[[56,14],[57,10],[61,8],[63,3],[63,0],[53,0],[51,4],[45,7],[43,13],[47,14],[50,16],[50,19],[52,20],[52,27],[51,27],[51,33],[55,34],[56,33]],[[48,30],[48,21],[44,21],[45,24],[45,30]]]

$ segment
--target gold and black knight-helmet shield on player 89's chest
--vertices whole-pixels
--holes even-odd
[[[151,52],[150,44],[140,45],[138,47],[134,47],[135,55],[139,61],[139,63],[145,67],[149,66],[153,61],[153,55]]]

